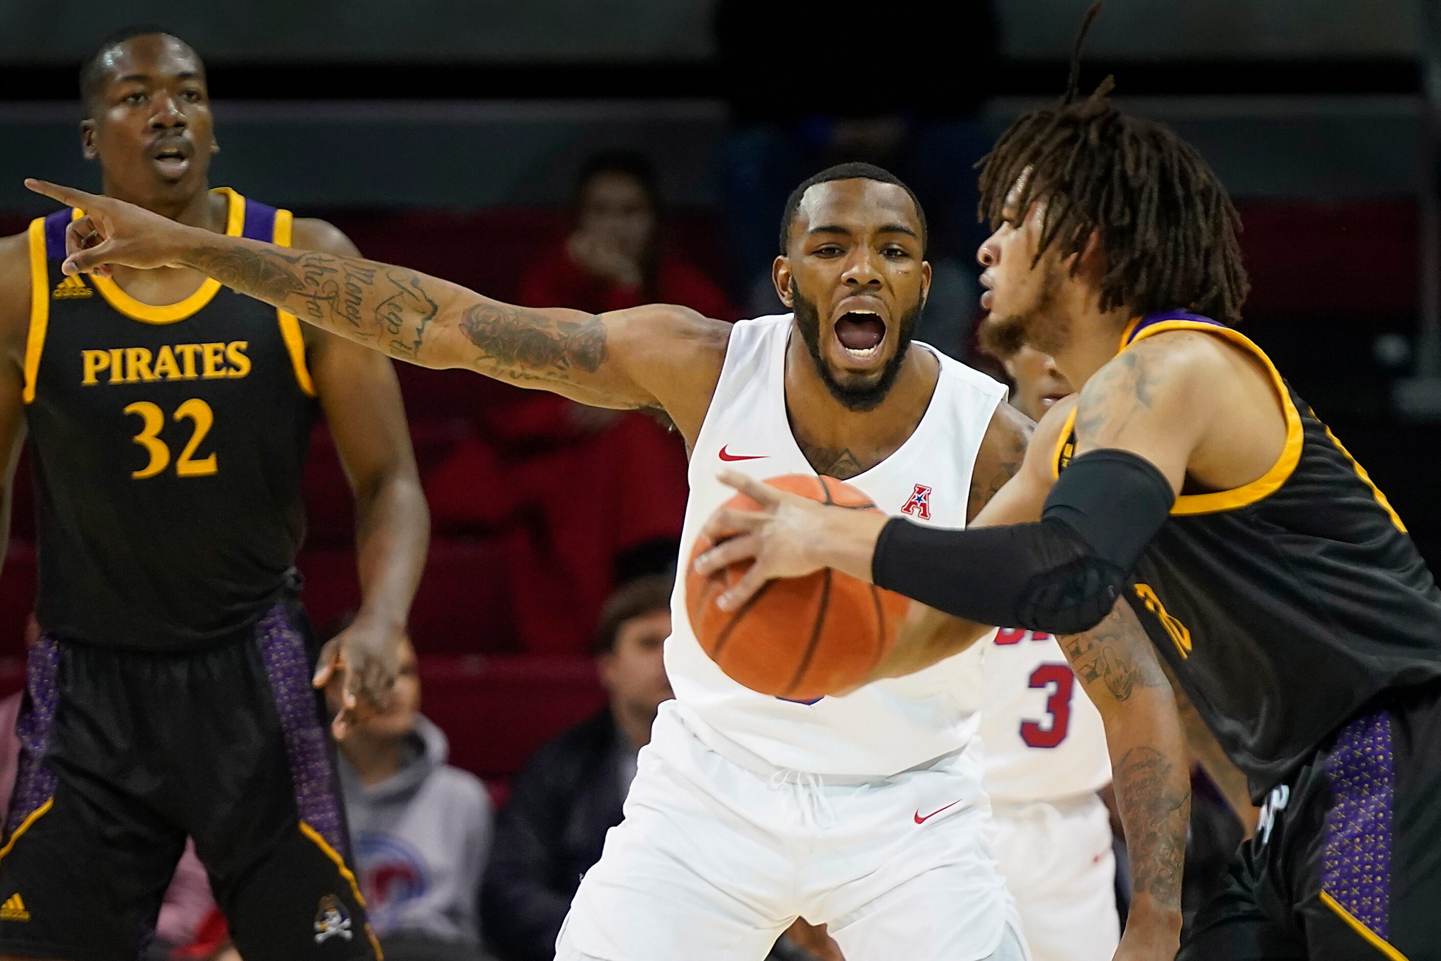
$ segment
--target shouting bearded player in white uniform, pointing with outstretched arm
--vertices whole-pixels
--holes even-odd
[[[725,467],[830,474],[885,511],[960,526],[1023,460],[1029,422],[1004,389],[909,343],[931,281],[925,219],[878,167],[834,167],[795,190],[774,268],[794,314],[733,327],[670,305],[513,307],[409,269],[30,186],[86,212],[69,229],[66,271],[183,264],[395,357],[664,412],[692,451],[683,556],[731,496],[716,480]],[[576,893],[559,958],[758,960],[797,916],[829,925],[849,961],[1027,957],[989,852],[978,718],[961,693],[978,684],[980,648],[921,671],[885,663],[895,679],[803,705],[732,681],[700,651],[679,592],[674,609],[676,702],[641,754],[625,821]],[[925,611],[918,622],[908,657],[990,633]],[[1102,712],[1112,751],[1134,746],[1156,715],[1124,697]],[[1143,836],[1147,814],[1136,817]],[[1136,924],[1133,934],[1164,942]],[[1123,945],[1117,957],[1154,955]]]

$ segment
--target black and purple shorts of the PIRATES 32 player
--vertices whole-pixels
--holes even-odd
[[[197,653],[30,648],[0,954],[133,960],[189,836],[245,961],[378,958],[316,654],[291,601]]]

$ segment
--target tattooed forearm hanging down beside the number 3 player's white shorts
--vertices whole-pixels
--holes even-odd
[[[1156,748],[1137,745],[1111,764],[1136,893],[1180,909],[1190,821],[1190,772]]]

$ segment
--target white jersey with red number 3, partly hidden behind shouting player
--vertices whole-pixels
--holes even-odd
[[[1056,638],[997,631],[986,644],[983,674],[987,794],[1001,801],[1055,801],[1111,782],[1101,713]]]

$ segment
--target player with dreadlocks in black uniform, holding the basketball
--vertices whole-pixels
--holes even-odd
[[[762,509],[718,513],[706,533],[732,539],[699,565],[755,559],[725,605],[831,566],[983,624],[1091,630],[1062,647],[1118,696],[1166,686],[1164,661],[1265,801],[1182,957],[1435,957],[1441,591],[1366,471],[1235,328],[1246,281],[1225,189],[1110,89],[1022,117],[981,174],[983,304],[1081,388],[1016,478],[944,530],[732,477]],[[1154,811],[1157,833],[1176,830],[1174,764],[1134,748],[1115,765],[1123,811]],[[1151,886],[1141,903],[1166,890]]]

